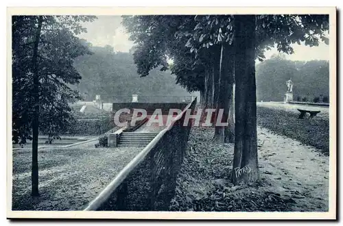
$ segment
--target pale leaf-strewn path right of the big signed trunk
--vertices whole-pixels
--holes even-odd
[[[261,178],[294,199],[294,211],[328,211],[329,157],[268,129],[258,128],[258,139]]]

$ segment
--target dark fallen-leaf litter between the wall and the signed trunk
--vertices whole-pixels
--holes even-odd
[[[233,147],[213,144],[212,134],[213,129],[191,129],[170,211],[289,210],[292,199],[282,199],[276,192],[265,192],[270,185],[267,189],[233,186],[229,182]]]

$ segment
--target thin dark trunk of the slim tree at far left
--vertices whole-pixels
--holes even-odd
[[[43,24],[43,16],[38,17],[38,27],[34,37],[34,51],[32,55],[32,71],[34,77],[34,114],[32,119],[32,196],[38,196],[38,128],[39,128],[39,75],[38,75],[38,45]]]

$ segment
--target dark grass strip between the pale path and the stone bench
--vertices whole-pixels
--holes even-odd
[[[294,110],[259,106],[257,124],[276,134],[321,149],[323,153],[329,155],[329,117],[327,114],[311,119],[300,119]]]

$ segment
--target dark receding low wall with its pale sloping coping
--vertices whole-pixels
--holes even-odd
[[[163,129],[84,210],[167,211],[185,155],[196,99]]]

